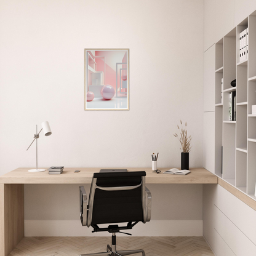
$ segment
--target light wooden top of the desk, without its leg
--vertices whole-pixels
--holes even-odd
[[[18,168],[0,176],[0,183],[6,184],[90,184],[94,172],[110,168],[68,168],[62,174],[28,172],[31,168]],[[47,169],[47,168],[46,168]],[[124,169],[124,168],[114,168]],[[128,171],[145,170],[146,183],[149,184],[217,184],[218,178],[204,168],[191,168],[188,175],[163,174],[170,168],[161,168],[161,173],[152,172],[151,168],[127,168]],[[74,173],[74,170],[81,172]]]

